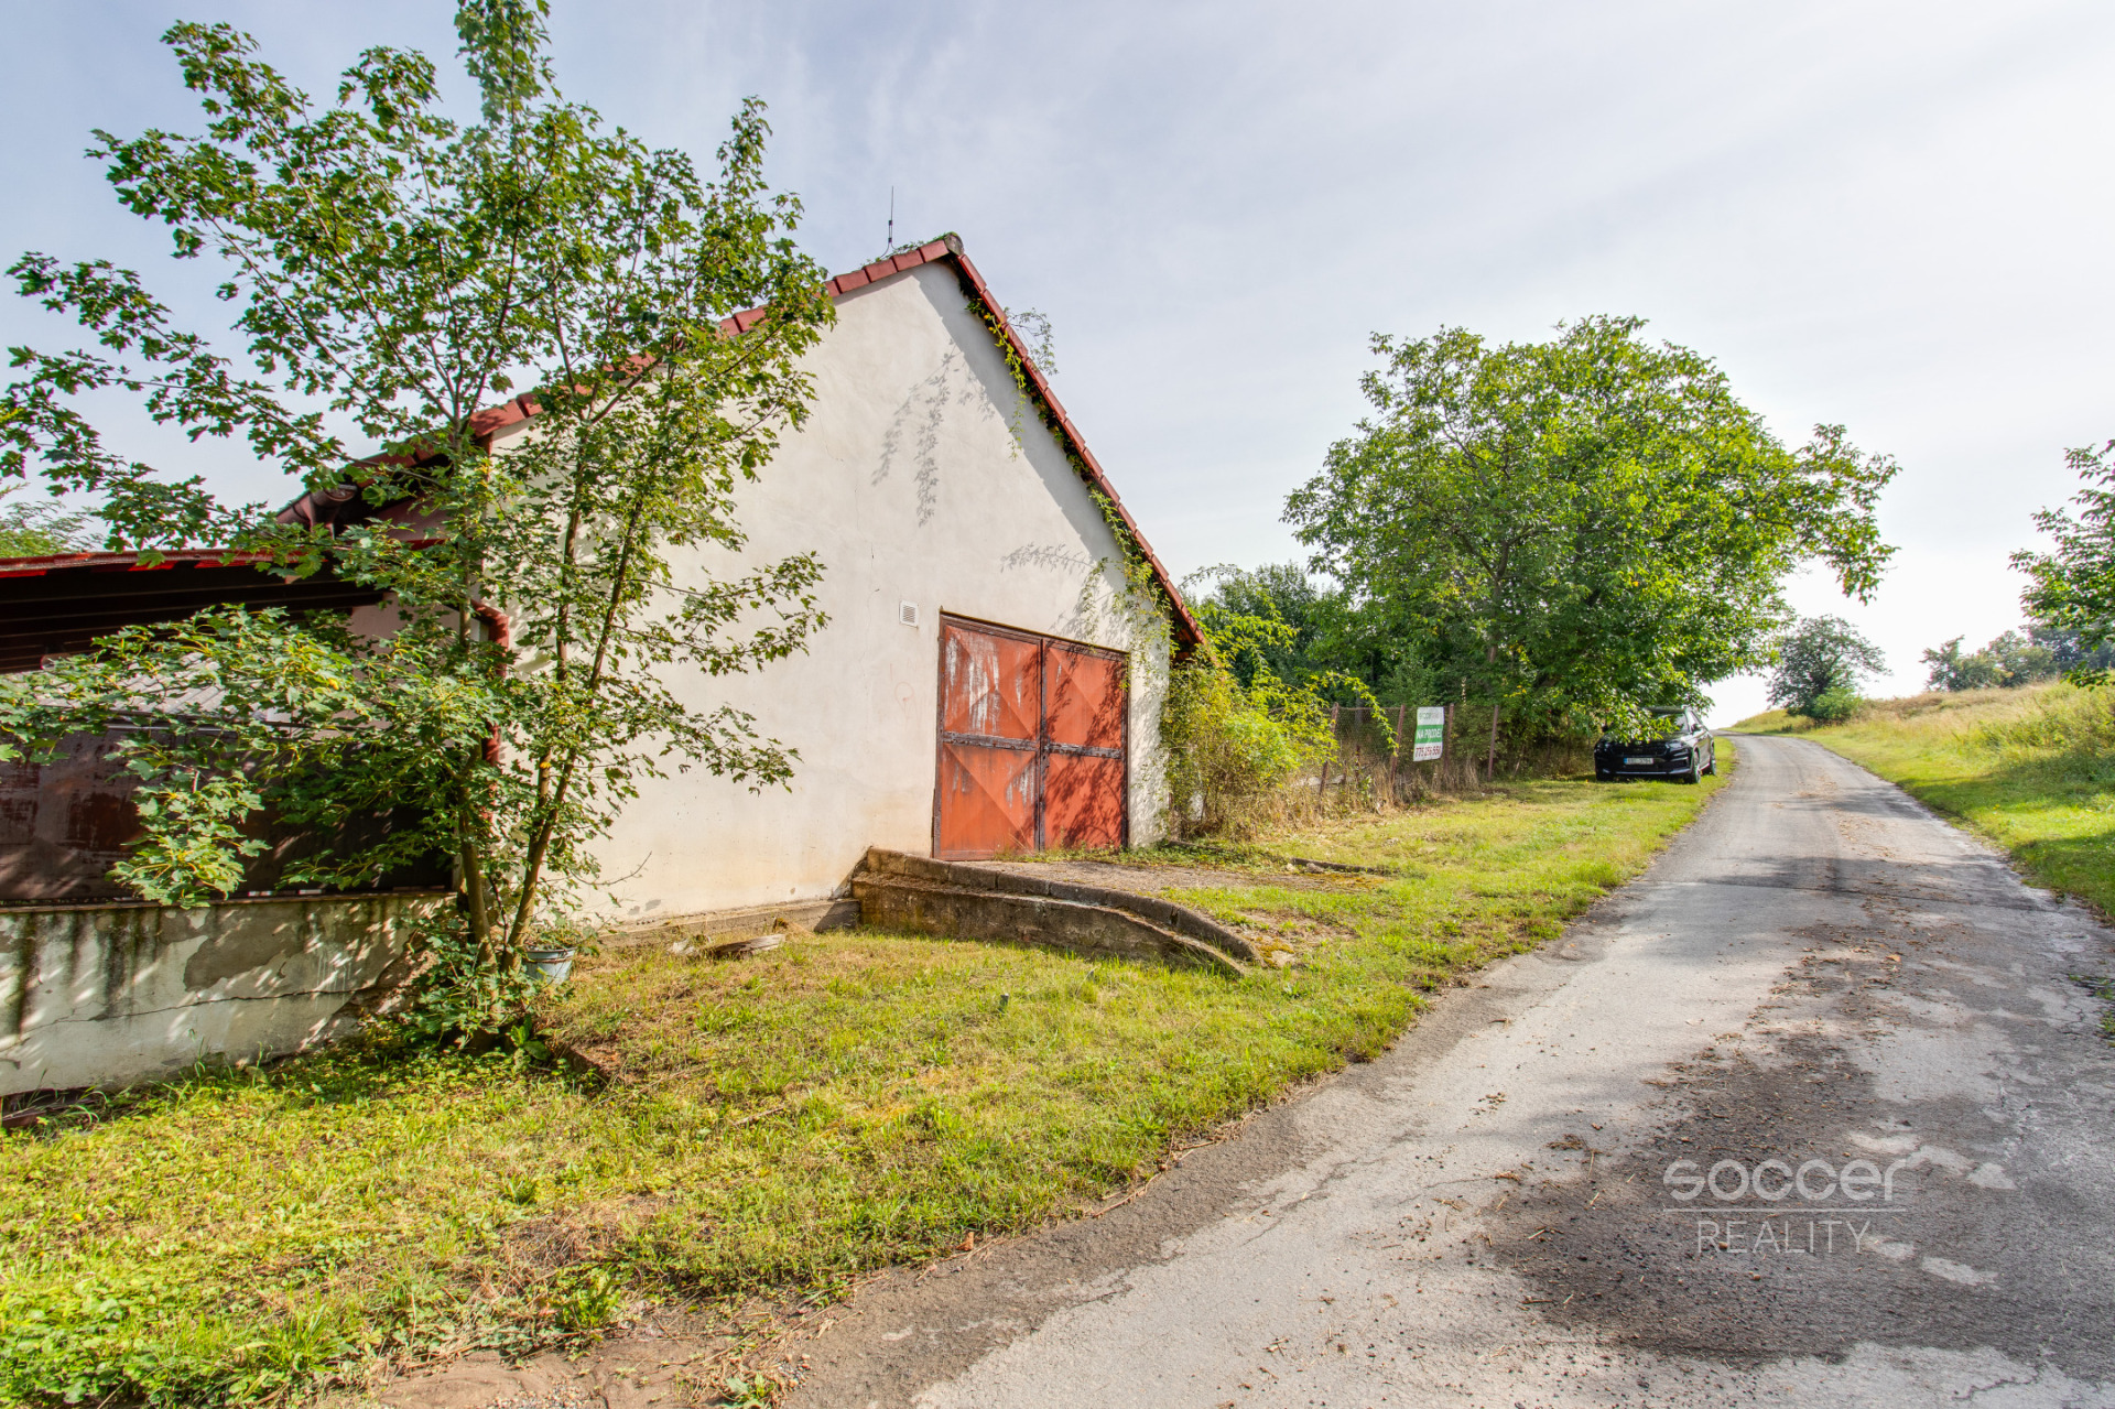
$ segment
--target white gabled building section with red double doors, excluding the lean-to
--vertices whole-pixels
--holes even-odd
[[[829,290],[810,417],[738,497],[742,561],[819,554],[829,624],[757,673],[673,677],[692,704],[753,713],[797,772],[761,793],[696,768],[643,783],[599,844],[628,920],[814,918],[867,846],[979,857],[1161,836],[1167,654],[1197,626],[1138,525],[960,241]],[[495,449],[529,425],[495,425]],[[700,548],[694,571],[734,563]]]

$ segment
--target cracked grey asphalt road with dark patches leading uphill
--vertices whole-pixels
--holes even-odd
[[[2115,937],[1796,738],[1639,880],[797,1409],[2115,1405]]]

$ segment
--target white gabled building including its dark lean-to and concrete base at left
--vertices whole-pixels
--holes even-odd
[[[829,624],[753,675],[670,675],[700,707],[753,713],[797,749],[797,772],[761,793],[696,768],[645,781],[601,842],[622,920],[749,933],[776,916],[848,920],[846,882],[869,846],[979,857],[1161,836],[1161,694],[1170,654],[1197,643],[1165,571],[1028,349],[986,322],[1000,305],[958,241],[829,288],[838,322],[808,355],[812,413],[738,499],[744,561],[819,554]],[[520,402],[478,423],[495,449],[533,427]],[[347,510],[360,512],[351,491],[317,493],[286,516]],[[1129,561],[1146,603],[1125,590]],[[376,590],[252,563],[226,550],[0,561],[0,671],[214,603],[387,618]],[[740,565],[698,550],[689,571]],[[108,749],[87,743],[51,766],[0,766],[0,1094],[328,1041],[398,982],[406,912],[446,903],[444,861],[372,895],[129,899],[108,870],[137,815]]]

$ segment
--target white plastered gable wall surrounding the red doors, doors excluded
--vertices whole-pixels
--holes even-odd
[[[615,914],[821,899],[867,846],[928,853],[943,611],[1132,654],[1129,834],[1157,840],[1165,637],[1125,609],[1115,533],[954,269],[842,296],[808,368],[808,423],[742,487],[747,552],[698,550],[679,573],[816,552],[829,624],[753,675],[668,675],[692,707],[734,704],[797,749],[793,783],[751,793],[700,768],[643,781],[596,846]],[[899,624],[899,603],[916,603],[918,626]]]

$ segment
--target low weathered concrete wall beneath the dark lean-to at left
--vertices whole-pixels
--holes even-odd
[[[0,910],[0,1094],[127,1085],[349,1030],[423,895]]]

